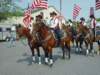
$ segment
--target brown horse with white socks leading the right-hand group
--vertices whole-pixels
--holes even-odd
[[[83,41],[85,42],[86,55],[88,55],[90,52],[94,53],[94,50],[93,50],[94,35],[93,35],[93,32],[91,31],[91,29],[87,28],[86,26],[79,25],[77,27],[77,38],[82,38],[80,40],[81,48],[82,48]],[[90,49],[88,48],[89,45],[90,45]]]

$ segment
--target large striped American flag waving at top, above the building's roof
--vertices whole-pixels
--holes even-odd
[[[47,9],[48,8],[47,0],[34,0],[34,2],[32,3],[31,8],[32,9],[35,9],[35,8]]]

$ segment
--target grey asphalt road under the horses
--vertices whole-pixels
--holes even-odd
[[[29,47],[16,42],[15,47],[0,43],[0,75],[100,75],[100,56],[85,56],[71,53],[70,60],[61,58],[60,48],[53,51],[54,65],[49,67],[31,63]],[[41,48],[40,48],[41,49]],[[96,46],[94,49],[97,49]],[[42,61],[43,61],[43,51]]]

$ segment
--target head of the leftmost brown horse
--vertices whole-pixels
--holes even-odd
[[[18,25],[16,26],[16,33],[17,33],[17,38],[27,37],[30,34],[30,30],[21,25]]]

